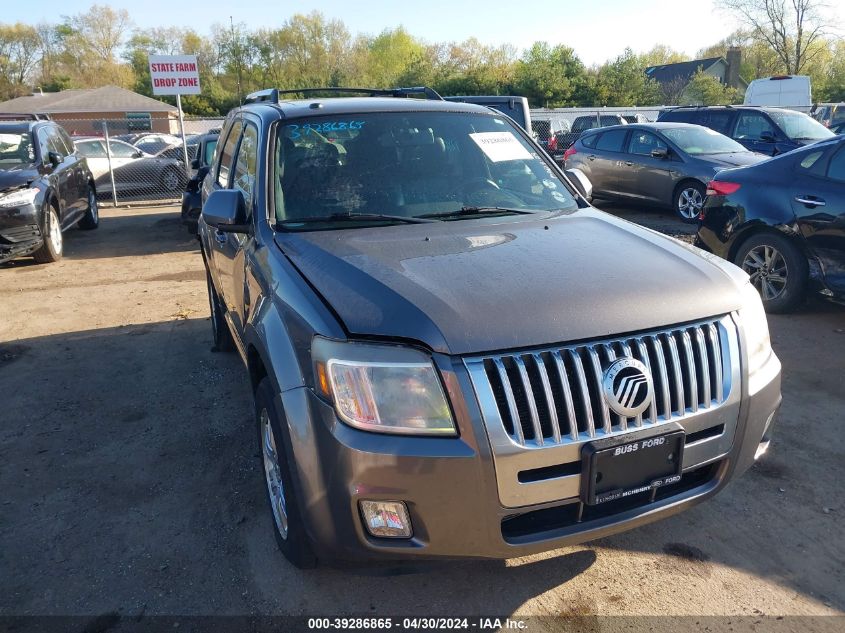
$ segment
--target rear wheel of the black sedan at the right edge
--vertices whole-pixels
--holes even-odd
[[[766,312],[789,312],[804,300],[807,258],[787,238],[774,233],[755,235],[740,246],[734,263],[751,276]]]

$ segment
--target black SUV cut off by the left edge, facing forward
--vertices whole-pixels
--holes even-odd
[[[46,121],[0,121],[0,262],[64,252],[62,232],[96,229],[94,179],[67,133]]]

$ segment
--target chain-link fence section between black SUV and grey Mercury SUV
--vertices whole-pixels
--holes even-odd
[[[178,121],[169,119],[53,119],[86,157],[97,197],[115,206],[181,200],[200,136],[223,123],[222,117],[186,119],[183,142]]]

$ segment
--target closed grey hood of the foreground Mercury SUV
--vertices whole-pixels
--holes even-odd
[[[528,219],[525,219],[528,218]],[[738,268],[594,209],[276,241],[351,336],[469,354],[634,332],[739,308]]]

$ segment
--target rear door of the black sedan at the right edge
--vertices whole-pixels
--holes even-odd
[[[810,162],[816,154],[816,161]],[[792,183],[792,208],[807,245],[818,257],[825,282],[845,295],[845,141],[832,152],[811,152]]]

